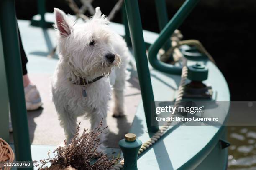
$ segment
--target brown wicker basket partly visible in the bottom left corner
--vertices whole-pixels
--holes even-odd
[[[10,145],[5,142],[2,138],[0,138],[0,163],[3,162],[13,162],[14,161],[14,153]],[[10,170],[10,166],[1,166],[0,170]]]

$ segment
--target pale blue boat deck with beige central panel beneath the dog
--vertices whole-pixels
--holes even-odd
[[[56,66],[57,57],[46,57],[56,45],[55,32],[52,29],[43,30],[42,28],[33,27],[30,25],[30,21],[26,20],[19,20],[18,25],[23,46],[28,55],[29,76],[41,92],[44,103],[43,108],[28,112],[32,158],[33,160],[40,160],[47,157],[49,149],[53,150],[56,145],[61,144],[64,140],[64,132],[59,126],[50,96],[50,79]],[[113,26],[113,29],[116,29],[121,35],[124,32],[121,25],[113,23],[110,26]],[[157,34],[146,32],[144,37],[145,41],[152,42]],[[188,62],[188,65],[192,64],[195,64],[195,62]],[[210,70],[209,78],[205,83],[210,83],[212,88],[218,91],[217,100],[230,100],[228,86],[221,72],[212,62],[205,62],[205,65]],[[118,141],[123,139],[124,134],[128,131],[136,133],[138,139],[142,142],[148,140],[152,135],[146,129],[136,71],[132,67],[128,70],[131,71],[131,78],[128,80],[128,88],[125,92],[126,117],[115,119],[111,116],[110,110],[107,118],[110,134],[106,145],[109,147],[108,154],[110,156],[117,155],[120,151],[115,148],[118,148]],[[180,76],[163,74],[152,68],[150,70],[155,100],[174,100]],[[82,122],[82,128],[90,127],[88,120],[81,117],[78,121]],[[223,158],[212,158],[212,154],[209,155],[210,152],[224,156],[227,154],[225,153],[226,149],[220,152],[216,144],[220,136],[223,135],[220,127],[177,126],[171,128],[167,134],[154,147],[142,154],[145,156],[138,159],[138,169],[170,170],[185,168],[200,170],[205,168],[203,160],[207,160],[208,165],[212,165],[211,162],[216,163],[216,161],[219,163],[220,161],[225,162]],[[10,134],[11,138],[12,134]],[[211,168],[213,170],[216,166]]]

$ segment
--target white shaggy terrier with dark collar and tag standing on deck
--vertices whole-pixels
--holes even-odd
[[[91,129],[103,118],[106,127],[111,87],[115,100],[113,117],[124,114],[124,97],[128,48],[120,35],[110,30],[108,19],[100,8],[82,24],[75,24],[70,16],[54,9],[58,31],[59,62],[52,80],[52,95],[70,143],[77,128],[77,117],[90,119]],[[100,136],[101,143],[106,133]],[[101,145],[99,150],[104,150]]]

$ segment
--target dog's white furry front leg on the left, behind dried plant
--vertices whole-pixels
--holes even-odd
[[[64,128],[67,143],[70,143],[77,129],[77,117],[67,111],[59,112],[60,125]]]

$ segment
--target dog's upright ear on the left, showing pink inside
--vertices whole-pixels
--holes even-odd
[[[67,37],[71,34],[72,24],[67,19],[66,14],[58,9],[54,8],[55,25],[54,27],[59,30],[62,37]]]

